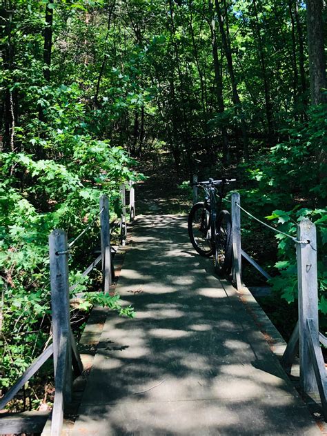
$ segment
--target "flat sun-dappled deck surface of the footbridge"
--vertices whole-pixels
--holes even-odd
[[[186,217],[137,220],[79,408],[77,435],[321,435]]]

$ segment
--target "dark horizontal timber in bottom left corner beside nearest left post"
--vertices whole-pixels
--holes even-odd
[[[41,433],[49,412],[21,412],[0,414],[0,435]]]

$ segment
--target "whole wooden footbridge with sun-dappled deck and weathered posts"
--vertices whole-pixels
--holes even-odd
[[[233,212],[236,235],[240,222],[235,205]],[[215,277],[210,261],[192,250],[185,216],[137,217],[117,286],[136,317],[126,319],[108,311],[101,326],[97,319],[88,326],[87,339],[96,353],[87,376],[79,370],[75,346],[70,348],[74,344],[67,337],[69,326],[54,327],[54,407],[59,408],[43,435],[321,435],[278,358],[284,353],[282,363],[289,367],[299,338],[301,387],[307,394],[319,392],[326,414],[326,372],[313,281],[315,241],[313,226],[304,222],[298,239],[309,237],[310,244],[297,248],[300,319],[286,348],[241,284],[239,237],[234,239],[234,287]],[[110,256],[108,239],[103,242],[105,258],[106,253]],[[106,277],[108,261],[107,257],[103,266]],[[57,291],[66,292],[58,286]],[[75,386],[86,379],[86,388],[75,422],[61,430],[60,411],[64,400],[71,399],[71,349],[81,373]],[[90,362],[84,351],[81,362],[86,359]],[[1,421],[6,418],[0,419],[2,429]]]

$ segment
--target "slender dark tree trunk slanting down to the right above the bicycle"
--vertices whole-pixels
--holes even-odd
[[[244,158],[248,159],[248,132],[246,130],[246,121],[244,117],[242,116],[242,110],[241,110],[241,100],[239,99],[239,92],[237,90],[237,81],[235,79],[234,74],[234,66],[232,63],[232,50],[230,46],[230,36],[228,29],[225,30],[224,28],[224,21],[221,14],[221,8],[219,5],[219,0],[215,0],[215,8],[217,12],[218,22],[219,22],[219,30],[221,34],[221,40],[224,47],[225,57],[227,61],[228,66],[228,73],[230,76],[230,82],[232,85],[232,101],[234,105],[236,106],[236,110],[240,115],[240,124],[241,124],[241,132],[243,137],[243,154]]]

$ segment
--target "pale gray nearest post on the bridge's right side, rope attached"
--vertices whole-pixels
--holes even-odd
[[[297,282],[299,288],[299,363],[300,385],[305,393],[317,391],[313,361],[308,349],[307,319],[313,319],[313,340],[319,344],[318,277],[316,229],[309,219],[297,226],[297,240],[310,244],[297,244]]]

